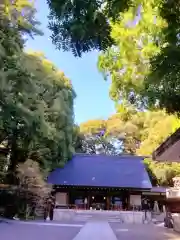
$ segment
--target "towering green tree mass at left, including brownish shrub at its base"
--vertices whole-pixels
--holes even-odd
[[[41,34],[33,5],[1,1],[0,8],[0,181],[18,185],[8,200],[26,215],[42,207],[50,191],[47,172],[62,166],[76,148],[75,92],[44,54],[24,51],[26,34]],[[5,209],[5,216],[14,216]]]

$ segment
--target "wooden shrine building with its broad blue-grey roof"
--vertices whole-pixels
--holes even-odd
[[[140,156],[76,154],[48,176],[59,208],[131,210],[144,196],[164,196],[153,188]]]

